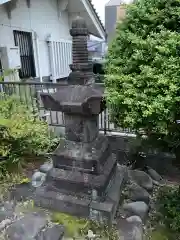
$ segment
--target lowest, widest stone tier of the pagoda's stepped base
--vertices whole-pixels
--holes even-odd
[[[63,194],[43,186],[34,192],[34,203],[39,207],[111,223],[120,201],[125,174],[124,168],[118,166],[104,201]]]

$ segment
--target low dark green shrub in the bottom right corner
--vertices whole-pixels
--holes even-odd
[[[164,187],[158,196],[159,212],[165,225],[180,233],[180,189]]]

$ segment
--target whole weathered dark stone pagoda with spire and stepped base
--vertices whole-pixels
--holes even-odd
[[[84,19],[77,17],[73,21],[70,34],[73,63],[69,85],[53,94],[41,94],[46,110],[64,113],[65,138],[52,154],[53,164],[44,183],[36,188],[35,204],[111,222],[124,172],[117,166],[108,138],[99,133],[99,114],[105,104],[102,90],[95,87],[92,63],[88,61]]]

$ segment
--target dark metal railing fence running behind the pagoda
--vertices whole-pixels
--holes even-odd
[[[49,126],[64,128],[64,115],[62,112],[47,111],[43,107],[40,94],[42,92],[54,93],[66,83],[51,82],[1,82],[0,92],[5,93],[5,97],[16,95],[26,104],[27,108],[33,109],[40,119],[46,119]],[[104,87],[103,84],[97,84]],[[131,129],[117,128],[110,122],[108,109],[99,115],[99,129],[106,134],[107,132],[132,134]]]

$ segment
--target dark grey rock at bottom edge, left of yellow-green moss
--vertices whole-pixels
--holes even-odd
[[[61,240],[64,235],[64,227],[61,225],[54,225],[43,230],[36,240]]]

